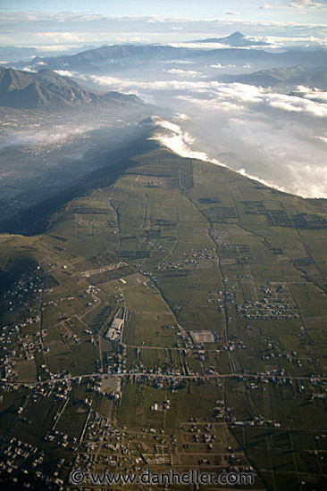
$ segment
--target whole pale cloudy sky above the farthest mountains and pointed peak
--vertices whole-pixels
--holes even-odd
[[[246,35],[322,38],[327,0],[2,0],[1,46],[83,46]]]

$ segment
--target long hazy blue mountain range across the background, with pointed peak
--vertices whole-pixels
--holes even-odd
[[[63,56],[35,57],[30,62],[12,62],[17,70],[38,71],[39,68],[48,68],[57,71],[71,71],[83,74],[115,74],[120,76],[125,71],[132,70],[142,73],[144,70],[155,71],[160,63],[192,62],[198,68],[220,63],[222,66],[232,65],[236,70],[243,69],[250,64],[253,71],[259,69],[272,69],[276,67],[306,67],[323,66],[326,63],[326,50],[323,48],[313,51],[303,51],[302,48],[291,51],[269,53],[264,50],[264,42],[256,42],[245,37],[240,32],[234,32],[228,37],[209,37],[198,41],[201,43],[219,42],[226,45],[220,49],[191,48],[185,43],[183,46],[162,45],[116,45],[102,46],[88,49],[79,54]],[[262,46],[262,49],[251,49],[251,46]]]

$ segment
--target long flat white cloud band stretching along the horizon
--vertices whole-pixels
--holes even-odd
[[[288,4],[290,4],[290,1]],[[317,0],[311,6],[313,7],[313,5],[317,4],[324,4],[324,0]],[[323,9],[323,6],[319,7],[319,9]],[[311,9],[311,15],[314,15],[314,12],[319,12],[319,9],[317,8],[315,11]],[[144,15],[114,16],[74,12],[61,12],[58,14],[48,12],[2,12],[0,15],[0,31],[5,33],[3,43],[7,46],[38,45],[42,42],[43,32],[47,35],[58,33],[55,37],[56,41],[54,41],[57,44],[59,42],[63,45],[66,42],[71,43],[72,41],[69,39],[59,37],[64,34],[63,30],[71,36],[78,37],[80,41],[73,42],[80,43],[80,46],[86,42],[114,43],[117,42],[116,37],[121,37],[125,40],[122,42],[133,42],[130,41],[130,38],[136,37],[139,38],[139,41],[136,40],[134,42],[147,42],[143,41],[143,39],[150,39],[152,43],[180,43],[181,41],[197,39],[202,36],[214,36],[217,32],[222,35],[228,35],[235,30],[243,32],[245,29],[250,31],[252,36],[278,36],[279,33],[284,35],[286,32],[287,35],[291,35],[292,32],[298,35],[298,29],[300,29],[303,37],[306,35],[308,37],[315,36],[321,30],[321,37],[323,38],[326,33],[326,26],[323,24],[323,20],[317,17],[315,23],[310,23],[306,20],[299,23],[294,21],[298,17],[298,12],[308,11],[299,8],[289,8],[289,11],[289,21],[253,21],[239,19],[239,15],[225,15],[225,19],[218,21],[213,19],[158,18]],[[293,14],[292,17],[291,14]],[[39,36],[37,36],[37,33],[39,33]],[[50,37],[44,37],[44,39],[47,41],[50,40]]]

